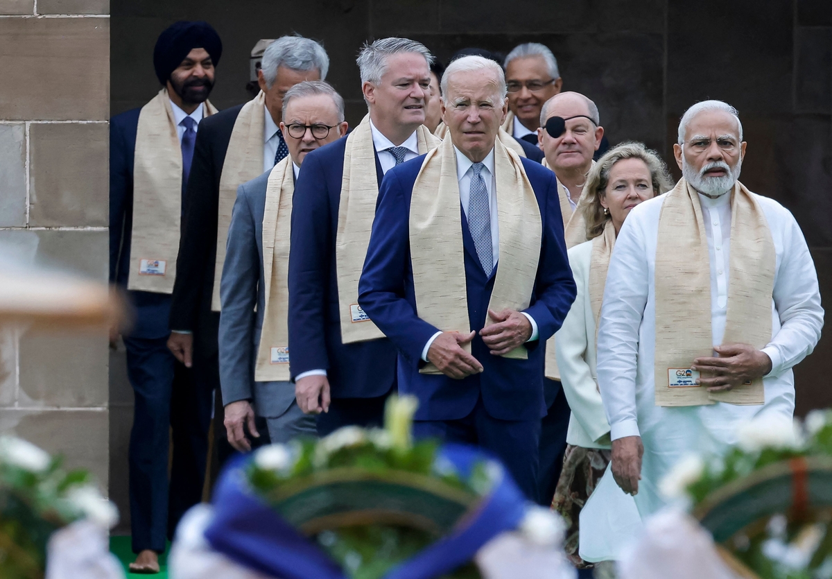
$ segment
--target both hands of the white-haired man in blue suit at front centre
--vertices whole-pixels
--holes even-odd
[[[481,329],[479,334],[491,354],[508,354],[525,344],[532,335],[532,324],[527,317],[513,309],[503,309],[501,312],[489,309],[488,315],[495,323]],[[439,334],[428,349],[428,362],[455,380],[482,372],[483,364],[463,349],[463,345],[469,344],[475,335],[475,332],[468,335],[458,332]]]

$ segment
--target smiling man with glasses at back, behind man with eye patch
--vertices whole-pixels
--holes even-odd
[[[540,110],[544,102],[561,92],[563,84],[557,59],[542,44],[527,42],[508,53],[503,68],[509,109],[503,130],[537,146]]]

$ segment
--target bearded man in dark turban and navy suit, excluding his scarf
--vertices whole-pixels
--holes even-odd
[[[176,22],[156,42],[153,61],[166,94],[160,93],[154,101],[170,99],[171,124],[182,159],[181,185],[171,183],[174,190],[157,194],[181,199],[196,132],[209,112],[206,100],[221,53],[220,37],[206,22]],[[110,283],[123,289],[131,275],[131,241],[139,233],[134,226],[134,213],[140,209],[133,203],[134,158],[144,110],[126,111],[110,121]],[[177,154],[172,148],[169,152]],[[178,230],[168,233],[179,235]],[[130,435],[130,512],[132,547],[138,557],[131,571],[158,572],[157,553],[165,551],[166,538],[173,538],[182,514],[202,497],[211,395],[210,389],[199,388],[191,370],[166,347],[171,334],[169,291],[131,290],[127,296],[136,319],[123,336],[127,375],[136,397]],[[117,332],[111,331],[113,346]],[[175,456],[169,488],[171,427]]]

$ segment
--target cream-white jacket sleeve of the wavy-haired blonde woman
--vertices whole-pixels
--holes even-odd
[[[584,253],[591,255],[592,250]],[[561,372],[563,393],[567,397],[569,408],[572,409],[572,416],[577,419],[589,438],[597,442],[598,438],[610,432],[610,426],[607,424],[601,394],[598,393],[597,384],[592,378],[592,369],[587,363],[590,340],[595,342],[595,326],[592,324],[592,327],[589,327],[587,324],[587,309],[590,308],[587,304],[587,278],[590,265],[588,260],[580,260],[578,263],[579,260],[575,259],[575,248],[569,250],[569,260],[572,274],[575,276],[577,295],[561,329],[555,334],[557,368]]]

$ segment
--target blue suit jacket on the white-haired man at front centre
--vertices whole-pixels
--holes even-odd
[[[575,299],[576,286],[563,241],[563,221],[554,173],[522,159],[542,218],[537,280],[525,310],[537,323],[538,339],[526,344],[527,360],[493,356],[477,334],[472,354],[483,373],[462,380],[419,374],[422,350],[438,332],[418,318],[410,265],[409,215],[414,181],[423,156],[388,171],[379,192],[373,234],[359,282],[359,304],[399,348],[399,392],[419,399],[419,420],[455,420],[468,416],[480,396],[488,414],[502,420],[534,420],[546,413],[543,402],[545,341],[560,329]],[[468,321],[483,329],[497,268],[483,271],[462,207]]]

